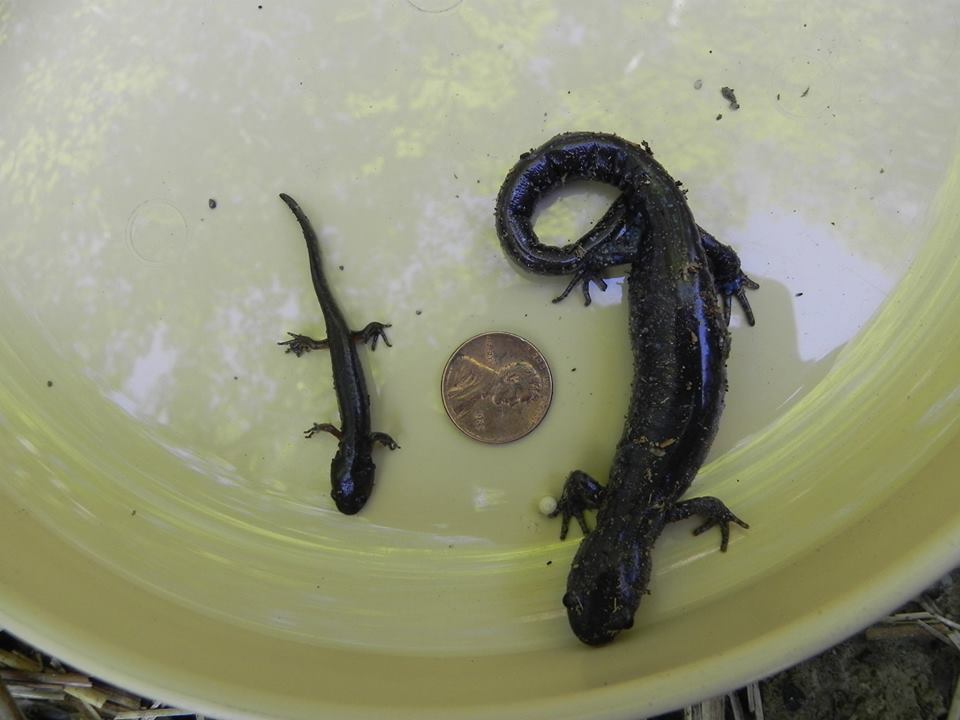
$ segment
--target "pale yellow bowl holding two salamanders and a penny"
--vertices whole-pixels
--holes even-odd
[[[960,558],[960,92],[952,3],[0,2],[0,624],[217,717],[636,717],[800,660]],[[733,87],[728,106],[720,89]],[[646,139],[760,281],[696,494],[600,650],[537,511],[605,477],[622,285],[520,274],[493,199],[571,129]],[[329,359],[300,230],[362,351],[378,451],[329,498]],[[210,199],[216,200],[212,208]],[[560,242],[610,201],[573,189]],[[337,268],[342,266],[342,271]],[[556,381],[515,444],[439,374],[485,330]],[[576,370],[574,370],[576,369]]]

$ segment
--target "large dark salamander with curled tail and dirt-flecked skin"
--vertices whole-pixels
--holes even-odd
[[[541,198],[571,180],[613,185],[621,195],[576,242],[544,245],[532,215]],[[606,487],[575,470],[554,516],[561,539],[570,518],[585,537],[567,579],[563,604],[577,637],[602,645],[632,627],[648,592],[651,551],[664,526],[699,515],[699,534],[714,526],[727,549],[730,523],[747,524],[714,497],[681,500],[717,430],[726,391],[730,298],[752,325],[732,248],[694,222],[683,192],[649,147],[615,135],[565,133],[521,155],[497,198],[497,233],[506,253],[544,274],[572,274],[558,302],[583,284],[606,289],[604,268],[629,264],[628,298],[633,386],[623,435]],[[584,511],[598,510],[589,532]]]

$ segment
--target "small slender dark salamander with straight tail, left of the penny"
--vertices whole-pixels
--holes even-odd
[[[389,346],[385,328],[390,326],[372,322],[363,330],[351,331],[347,327],[343,313],[340,312],[323,274],[320,243],[310,220],[292,197],[281,193],[280,198],[290,207],[303,228],[307,254],[310,257],[310,275],[327,326],[327,337],[324,340],[314,340],[306,335],[287,333],[290,339],[278,344],[286,345],[286,351],[297,357],[311,350],[330,350],[333,389],[340,410],[340,427],[330,423],[315,423],[304,435],[313,437],[319,432],[328,432],[340,441],[337,454],[330,463],[330,482],[333,486],[330,495],[340,512],[353,515],[360,511],[373,490],[376,470],[373,463],[373,444],[378,442],[391,450],[399,447],[386,433],[370,431],[370,397],[367,395],[360,356],[354,346],[357,341],[369,342],[370,349],[376,350],[377,340],[380,338]]]

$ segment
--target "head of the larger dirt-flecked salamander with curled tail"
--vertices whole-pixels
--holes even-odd
[[[649,557],[627,551],[592,552],[596,534],[588,535],[574,560],[563,604],[570,628],[587,645],[605,645],[621,630],[633,627],[633,616],[646,592]],[[635,549],[634,549],[635,550]],[[645,568],[645,571],[644,571]]]

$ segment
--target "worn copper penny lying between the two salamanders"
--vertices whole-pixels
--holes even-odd
[[[485,443],[519,440],[543,420],[553,377],[528,340],[488,332],[457,348],[443,368],[443,407],[464,434]]]

